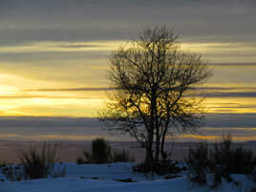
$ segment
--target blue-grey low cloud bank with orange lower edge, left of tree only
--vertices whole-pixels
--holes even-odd
[[[53,140],[59,138],[84,140],[108,137],[108,134],[96,118],[0,117],[0,137],[4,136],[1,139]],[[8,137],[5,138],[5,135]]]

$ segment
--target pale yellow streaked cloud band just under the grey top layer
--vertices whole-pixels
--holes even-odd
[[[1,38],[1,37],[0,37]],[[60,41],[57,39],[36,40],[33,42],[24,42],[10,45],[0,44],[1,60],[24,60],[25,58],[49,60],[53,58],[67,58],[68,55],[72,59],[96,59],[99,57],[107,58],[107,55],[115,51],[120,45],[125,45],[125,40],[95,40],[95,41]],[[241,58],[236,62],[251,62],[255,61],[256,43],[236,43],[236,42],[186,42],[181,41],[181,49],[187,51],[191,50],[193,53],[201,53],[206,59],[210,61],[230,62],[228,60],[232,56]],[[60,56],[60,57],[59,57]],[[243,60],[243,58],[245,58]],[[228,60],[228,61],[226,61]],[[215,67],[215,66],[213,66]]]

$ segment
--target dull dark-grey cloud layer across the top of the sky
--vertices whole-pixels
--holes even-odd
[[[182,38],[255,41],[255,1],[2,0],[1,43],[130,39],[146,24],[166,23]]]

